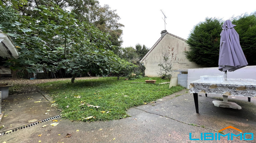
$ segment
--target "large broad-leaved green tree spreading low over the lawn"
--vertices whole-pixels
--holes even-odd
[[[0,19],[12,17],[11,24],[6,22],[1,28],[21,48],[20,58],[9,60],[14,70],[31,73],[36,69],[64,68],[72,75],[71,82],[76,75],[88,71],[106,75],[121,70],[118,68],[121,59],[108,49],[109,35],[76,20],[73,13],[63,11],[58,5],[38,6],[34,8],[34,13],[38,13],[34,17],[21,16],[12,7],[1,7],[1,12]]]

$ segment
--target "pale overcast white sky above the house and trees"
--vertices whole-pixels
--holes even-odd
[[[187,39],[190,31],[206,17],[230,19],[256,11],[256,0],[98,0],[108,4],[121,18],[123,28],[122,47],[136,44],[151,48],[165,30],[163,13],[166,15],[167,32]],[[163,13],[160,11],[162,10]]]

